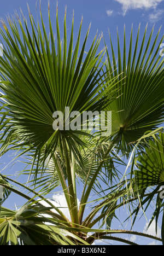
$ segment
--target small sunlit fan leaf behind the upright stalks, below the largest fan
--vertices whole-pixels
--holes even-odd
[[[87,184],[89,184],[99,166],[99,162],[101,162],[104,153],[108,149],[109,142],[101,142],[96,137],[90,138],[83,135],[79,136],[79,138],[85,143],[85,147],[79,147],[83,166],[81,166],[78,159],[71,156],[71,154],[69,154],[69,161],[72,162],[74,178],[77,180],[77,182],[78,179],[80,179],[83,183],[87,181]],[[40,159],[42,159],[42,156],[40,156]],[[50,158],[50,156],[46,158],[44,169],[42,167],[42,161],[39,161],[39,165],[37,166],[38,159],[36,159],[33,164],[32,154],[29,155],[28,158],[26,157],[22,162],[27,164],[27,167],[24,171],[21,171],[20,174],[34,176],[35,173],[37,173],[38,178],[29,179],[28,182],[32,185],[34,183],[36,185],[36,189],[40,188],[42,191],[45,191],[45,193],[48,193],[48,191],[51,191],[60,185],[60,179],[57,173],[57,165],[60,166],[60,172],[62,172],[63,179],[67,180],[66,163],[65,159],[61,158],[60,156],[59,148],[56,148],[53,159]],[[93,189],[99,188],[99,191],[101,191],[98,179],[101,180],[104,184],[108,185],[109,183],[112,183],[113,179],[116,180],[116,178],[118,178],[119,171],[116,170],[114,165],[115,163],[124,164],[124,162],[121,161],[121,159],[119,159],[119,157],[114,152],[111,152],[111,155],[109,155],[108,158],[103,162],[103,166],[98,173],[98,177]],[[28,170],[29,166],[32,167]],[[96,193],[98,193],[98,190],[96,190]]]

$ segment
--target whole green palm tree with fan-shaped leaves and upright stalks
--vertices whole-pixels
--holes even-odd
[[[149,49],[151,32],[143,54],[145,30],[138,59],[139,30],[133,58],[131,34],[127,62],[125,36],[122,65],[119,39],[117,64],[112,43],[112,60],[106,46],[98,52],[102,36],[97,38],[96,35],[89,51],[85,52],[90,28],[79,53],[82,21],[73,50],[74,18],[69,44],[66,12],[62,44],[58,8],[57,39],[54,39],[50,8],[49,37],[41,10],[40,18],[41,25],[39,21],[34,21],[29,9],[30,27],[23,15],[22,20],[17,14],[16,19],[9,17],[8,25],[2,20],[1,35],[5,46],[4,57],[0,59],[1,155],[8,150],[19,150],[19,156],[26,155],[30,165],[26,174],[29,174],[29,183],[34,184],[35,189],[1,175],[0,186],[5,190],[1,200],[4,201],[13,191],[28,201],[19,211],[1,207],[1,245],[91,245],[97,239],[135,244],[113,234],[136,234],[162,241],[147,234],[111,228],[118,208],[150,196],[145,187],[139,187],[136,179],[140,176],[133,177],[133,170],[130,178],[126,175],[120,178],[115,162],[125,166],[118,152],[123,156],[127,155],[127,150],[128,153],[133,150],[134,156],[140,154],[146,148],[149,137],[159,131],[155,129],[162,122],[164,99],[164,60],[160,57],[156,60],[160,45],[153,55],[159,33]],[[106,53],[107,61],[104,62]],[[66,107],[69,107],[69,113]],[[103,137],[101,131],[96,132],[95,129],[66,129],[68,114],[84,111],[101,113],[103,110],[112,110],[111,136]],[[54,120],[53,114],[56,111],[63,113],[65,122],[62,129],[54,130],[52,124],[57,119]],[[71,121],[75,122],[74,118]],[[60,126],[57,121],[55,124]],[[148,130],[153,133],[144,135]],[[80,206],[77,181],[83,183]],[[107,187],[106,190],[101,187],[100,181]],[[33,195],[30,197],[21,193],[11,185],[13,183]],[[58,185],[61,185],[65,195],[71,220],[45,198]],[[130,193],[132,189],[133,194]],[[92,191],[99,197],[94,201],[96,206],[85,217]],[[155,190],[153,195],[156,193]],[[48,207],[43,206],[43,201]],[[106,225],[106,229],[95,228],[99,222]]]

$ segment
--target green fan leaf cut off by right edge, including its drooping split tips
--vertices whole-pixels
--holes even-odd
[[[134,171],[134,191],[137,189],[139,196],[138,207],[132,212],[135,213],[133,223],[135,222],[140,207],[143,208],[144,213],[149,209],[152,201],[155,202],[154,213],[152,214],[149,226],[155,219],[156,234],[160,213],[163,212],[163,197],[160,187],[164,184],[164,133],[149,137],[145,144],[145,150],[136,158],[137,170]],[[156,187],[155,187],[156,186]],[[149,191],[147,194],[146,191]],[[163,222],[162,222],[163,228]],[[163,238],[163,229],[161,232]]]

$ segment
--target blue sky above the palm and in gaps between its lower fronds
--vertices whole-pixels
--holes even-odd
[[[14,11],[17,10],[17,13],[20,12],[20,8],[22,9],[24,16],[28,16],[27,10],[27,2],[30,6],[31,13],[33,16],[36,15],[36,1],[35,0],[6,0],[1,1],[0,5],[0,17],[4,20],[7,20],[6,16],[14,15]],[[164,0],[58,0],[58,11],[60,18],[60,25],[62,28],[63,19],[65,14],[65,7],[67,6],[67,28],[68,33],[71,30],[72,24],[72,16],[74,10],[74,31],[75,34],[78,33],[81,16],[83,16],[83,28],[82,28],[82,36],[85,36],[87,28],[91,22],[91,30],[88,41],[88,46],[90,46],[90,39],[92,40],[97,33],[103,33],[104,38],[106,40],[107,45],[109,45],[109,30],[113,39],[113,44],[116,48],[117,42],[117,28],[120,34],[120,42],[123,42],[123,34],[124,34],[124,26],[126,27],[127,34],[127,42],[130,38],[131,27],[133,24],[133,33],[136,35],[138,26],[140,26],[140,35],[142,37],[145,27],[148,24],[148,34],[151,31],[153,25],[155,24],[154,37],[161,28],[161,37],[164,33],[163,28],[163,18],[164,18]],[[39,1],[37,3],[37,12],[39,9]],[[56,13],[56,0],[50,0],[50,10],[52,15],[55,17]],[[48,0],[42,0],[42,12],[43,18],[46,22],[48,22]],[[55,24],[55,19],[54,19]],[[0,25],[1,27],[1,25]],[[161,38],[160,37],[160,38]],[[83,41],[83,39],[82,39]],[[120,45],[121,46],[121,45]],[[103,47],[103,43],[102,43]],[[123,47],[123,45],[122,45]],[[5,162],[6,164],[9,162],[9,154],[4,156],[1,159],[1,162]],[[13,167],[12,173],[22,168],[22,165],[19,163],[17,167]],[[4,173],[4,172],[3,172]],[[23,179],[22,179],[23,182]],[[20,201],[17,197],[10,197],[9,200],[5,203],[6,207],[12,208],[15,207],[15,203],[17,206],[23,204],[23,201]],[[126,212],[126,209],[125,209]],[[120,212],[120,218],[126,216],[126,213]],[[153,212],[153,210],[152,210]],[[150,212],[150,215],[151,213]],[[148,214],[149,215],[149,214]],[[150,216],[148,216],[149,219]],[[118,226],[117,226],[118,225]],[[119,229],[119,223],[115,223],[115,228]],[[136,226],[138,231],[143,231],[146,226],[145,218],[142,218],[139,224]],[[159,224],[160,225],[160,224]],[[154,233],[154,226],[151,226],[149,231],[151,234]],[[125,237],[125,236],[124,236]],[[134,242],[139,242],[142,244],[149,244],[152,241],[149,240],[141,240],[140,238],[137,240],[136,236],[131,237]],[[154,242],[153,242],[154,243]],[[156,243],[159,244],[159,243]],[[97,243],[98,245],[98,243]],[[154,245],[154,244],[153,244]]]

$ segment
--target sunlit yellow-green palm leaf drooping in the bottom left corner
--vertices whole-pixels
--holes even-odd
[[[24,206],[17,212],[2,207],[0,244],[75,245],[67,236],[80,241],[80,238],[65,230],[65,223],[59,224],[51,216],[44,217],[44,214],[48,212],[50,214],[49,208],[44,206]]]

